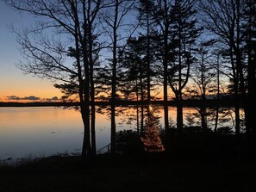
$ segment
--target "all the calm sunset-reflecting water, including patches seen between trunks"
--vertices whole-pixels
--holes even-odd
[[[169,108],[172,120],[176,118],[175,108]],[[184,108],[184,115],[192,113]],[[159,116],[163,111],[159,111]],[[129,115],[135,110],[129,108],[116,117],[116,131],[134,129],[135,121],[127,124]],[[163,118],[160,118],[163,124]],[[184,121],[185,123],[185,121]],[[97,149],[110,142],[110,121],[108,115],[97,114]],[[78,111],[63,108],[0,108],[0,160],[7,158],[47,157],[57,153],[81,152],[83,124]]]

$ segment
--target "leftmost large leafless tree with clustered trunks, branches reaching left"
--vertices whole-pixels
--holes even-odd
[[[95,126],[93,120],[90,123],[89,102],[90,97],[92,102],[94,100],[92,78],[93,65],[96,62],[93,56],[97,37],[95,25],[98,11],[103,6],[102,1],[6,0],[5,3],[36,17],[37,22],[33,28],[16,33],[25,58],[19,67],[22,71],[38,77],[57,80],[59,85],[56,87],[78,94],[84,122],[82,157],[93,156]],[[73,64],[65,62],[70,60],[66,59],[66,55],[72,59]]]

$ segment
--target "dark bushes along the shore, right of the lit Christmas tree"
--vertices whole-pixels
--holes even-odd
[[[241,135],[237,145],[230,127],[219,127],[216,132],[201,127],[184,127],[182,135],[177,128],[166,133],[165,149],[169,155],[185,159],[237,159],[252,158],[247,151],[246,137]]]

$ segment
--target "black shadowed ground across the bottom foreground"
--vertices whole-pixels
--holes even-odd
[[[256,164],[238,159],[178,159],[165,154],[43,158],[0,167],[0,191],[255,192]]]

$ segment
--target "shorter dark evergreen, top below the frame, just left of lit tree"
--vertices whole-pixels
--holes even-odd
[[[153,86],[157,85],[155,72],[157,65],[154,63],[154,65],[148,66],[148,62],[153,64],[154,56],[153,53],[148,53],[147,39],[147,36],[143,34],[139,34],[138,38],[129,38],[121,52],[122,71],[125,73],[122,92],[126,95],[126,98],[137,101],[138,110],[138,102],[140,102],[140,133],[143,133],[144,130],[144,103],[147,102],[148,111],[150,102],[148,96],[153,98],[150,93],[148,94],[148,91],[154,90]],[[150,42],[150,45],[150,47],[153,47],[153,42]]]

